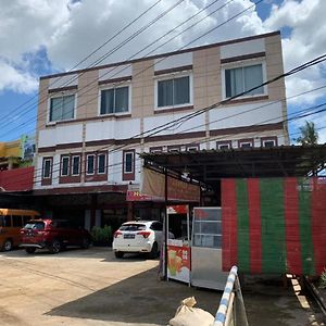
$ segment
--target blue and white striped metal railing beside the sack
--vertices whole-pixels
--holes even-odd
[[[227,277],[214,326],[248,326],[237,266],[231,267]]]

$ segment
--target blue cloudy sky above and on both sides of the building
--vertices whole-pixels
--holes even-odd
[[[0,0],[0,141],[35,134],[40,76],[274,30],[287,72],[326,53],[325,12],[325,0]],[[289,116],[326,102],[325,62],[287,77],[286,93]],[[292,142],[305,120],[326,142],[326,112],[291,121]]]

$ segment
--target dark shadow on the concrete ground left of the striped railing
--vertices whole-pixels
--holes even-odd
[[[120,323],[166,325],[179,302],[195,296],[197,306],[216,312],[222,293],[190,288],[176,281],[158,281],[156,268],[135,275],[76,301],[58,306],[48,315]]]

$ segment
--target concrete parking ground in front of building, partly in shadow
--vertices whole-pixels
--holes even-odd
[[[158,264],[137,255],[116,260],[106,248],[2,252],[0,325],[167,325],[190,296],[215,314],[221,292],[158,281]],[[278,278],[247,278],[243,297],[250,325],[325,325],[300,290]]]

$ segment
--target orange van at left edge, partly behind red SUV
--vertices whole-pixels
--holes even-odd
[[[10,251],[21,241],[21,228],[39,215],[29,210],[0,209],[0,251]]]

